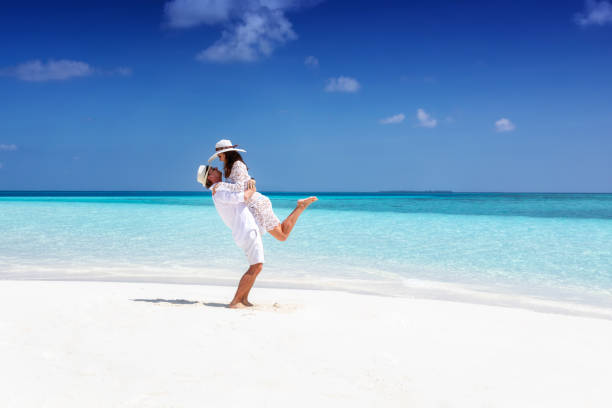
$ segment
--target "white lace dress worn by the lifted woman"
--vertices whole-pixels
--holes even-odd
[[[241,161],[236,161],[232,165],[232,172],[227,177],[226,182],[222,183],[223,187],[233,192],[240,192],[246,189],[247,182],[251,180],[249,171],[246,165]],[[259,229],[263,232],[270,231],[280,224],[280,220],[272,210],[272,203],[265,195],[255,192],[251,199],[246,202],[246,205],[253,214],[255,222],[259,225]]]

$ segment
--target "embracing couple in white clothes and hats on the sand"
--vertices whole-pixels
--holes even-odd
[[[279,241],[285,241],[295,226],[299,216],[317,197],[298,200],[297,206],[283,221],[276,217],[270,199],[257,192],[255,180],[237,149],[229,140],[220,140],[215,146],[215,154],[208,159],[209,165],[198,169],[198,182],[211,190],[217,212],[225,225],[232,230],[236,245],[246,254],[249,269],[240,279],[230,308],[253,306],[249,302],[249,292],[261,272],[264,263],[262,235],[268,232]],[[210,163],[219,158],[224,164],[223,175]]]

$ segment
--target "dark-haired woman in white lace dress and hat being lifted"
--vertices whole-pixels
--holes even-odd
[[[255,183],[255,180],[251,179],[248,168],[239,153],[245,152],[245,150],[237,149],[237,146],[232,145],[229,140],[220,140],[215,146],[216,153],[209,159],[210,162],[215,157],[219,157],[219,160],[223,162],[223,174],[226,182],[219,184],[234,192],[244,191],[250,186],[250,183]],[[295,209],[282,223],[274,214],[270,199],[259,192],[251,196],[247,201],[247,207],[262,231],[268,231],[279,241],[286,241],[302,212],[317,200],[317,197],[298,200]]]

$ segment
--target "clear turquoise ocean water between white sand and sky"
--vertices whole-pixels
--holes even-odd
[[[298,198],[265,193],[282,220]],[[612,194],[315,193],[257,285],[612,308]],[[209,193],[0,192],[0,279],[235,285]],[[467,295],[466,295],[467,296]]]

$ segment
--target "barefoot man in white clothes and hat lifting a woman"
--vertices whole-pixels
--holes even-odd
[[[234,299],[230,308],[253,306],[249,302],[249,292],[255,283],[257,275],[263,269],[264,252],[261,232],[246,206],[246,201],[255,193],[255,184],[249,183],[244,192],[231,192],[217,186],[222,180],[221,172],[216,167],[200,166],[198,181],[212,191],[215,208],[221,219],[232,230],[234,242],[246,254],[249,260],[249,269],[240,279]]]

